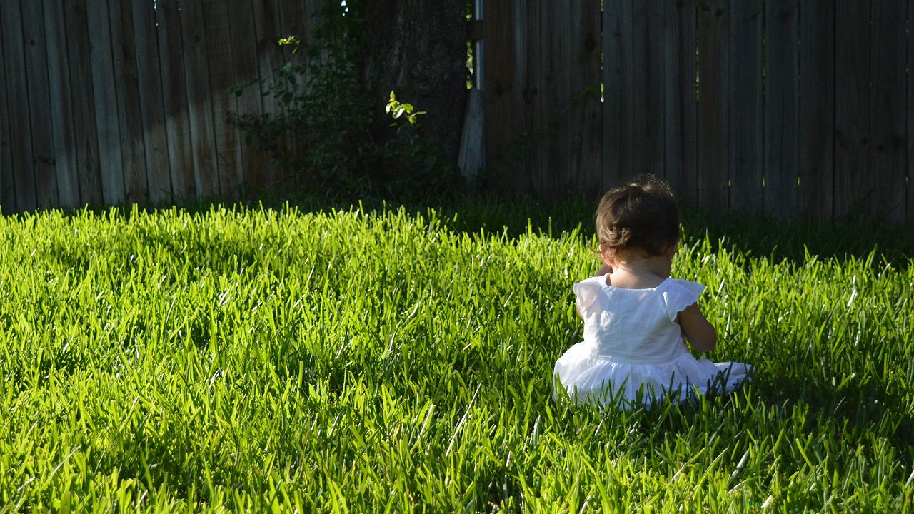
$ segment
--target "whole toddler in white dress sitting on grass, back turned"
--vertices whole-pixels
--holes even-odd
[[[556,362],[553,375],[579,402],[650,407],[669,396],[733,391],[751,366],[696,359],[717,333],[698,308],[704,286],[670,277],[679,215],[665,184],[632,183],[607,193],[597,208],[604,265],[574,284],[584,340]]]

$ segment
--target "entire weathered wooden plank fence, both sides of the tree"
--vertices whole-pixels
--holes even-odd
[[[3,0],[3,211],[275,183],[226,121],[275,102],[227,88],[271,80],[276,40],[328,1]],[[653,173],[689,205],[910,220],[912,5],[487,0],[490,173],[542,195]]]

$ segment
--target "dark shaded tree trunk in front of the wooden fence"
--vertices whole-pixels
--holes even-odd
[[[422,133],[438,138],[454,165],[466,102],[466,5],[466,0],[367,0],[365,7],[365,80],[378,108],[396,91],[399,102],[428,112],[419,118]]]

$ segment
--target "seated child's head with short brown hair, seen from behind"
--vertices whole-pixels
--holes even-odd
[[[663,255],[679,241],[679,212],[673,192],[653,177],[612,189],[597,208],[597,237],[604,259],[639,250]]]

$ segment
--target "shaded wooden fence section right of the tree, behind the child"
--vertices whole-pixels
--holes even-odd
[[[914,218],[911,2],[602,4],[487,2],[486,152],[515,187],[653,173],[706,208]]]

